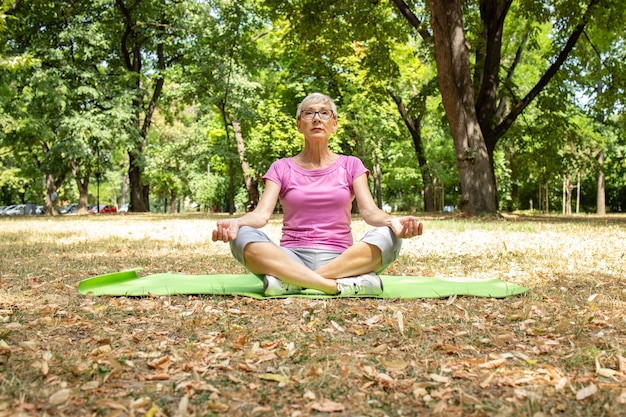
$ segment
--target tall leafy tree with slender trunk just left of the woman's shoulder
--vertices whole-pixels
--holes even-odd
[[[181,83],[190,99],[201,103],[201,113],[217,110],[222,118],[223,152],[229,179],[229,212],[235,210],[236,177],[241,172],[248,201],[258,202],[258,174],[247,161],[246,136],[256,118],[254,108],[262,94],[260,68],[267,63],[259,49],[266,34],[264,10],[254,1],[208,3],[210,13],[198,21],[186,56]]]

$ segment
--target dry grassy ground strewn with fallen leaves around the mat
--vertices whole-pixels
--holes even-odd
[[[626,413],[624,216],[425,218],[387,271],[531,289],[503,300],[78,294],[135,267],[245,272],[216,219],[0,218],[0,417]]]

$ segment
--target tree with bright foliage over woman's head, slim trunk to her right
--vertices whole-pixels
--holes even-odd
[[[393,103],[412,139],[424,191],[424,208],[432,211],[432,172],[424,151],[421,121],[425,103],[435,88],[431,82],[434,71],[430,71],[431,65],[424,59],[428,57],[428,50],[425,48],[426,53],[422,53],[416,48],[424,43],[412,38],[406,25],[397,24],[394,10],[386,2],[368,3],[367,7],[353,1],[335,1],[331,5],[313,1],[268,3],[288,25],[286,62],[294,79],[292,84],[298,78],[308,80],[300,84],[309,90],[327,92],[340,106],[342,102],[358,100],[362,108],[371,107],[375,112]],[[364,21],[368,24],[364,25]],[[358,129],[362,132],[374,133],[381,126],[381,121],[375,118],[363,119],[352,113],[347,116],[347,122],[342,121],[342,125],[350,124],[351,118],[356,117],[356,123],[362,124]],[[385,137],[403,140],[403,136],[394,133]],[[357,137],[367,141],[368,135]],[[375,148],[380,143],[381,137],[375,137],[368,146]],[[351,151],[350,148],[342,150]],[[375,149],[365,152],[365,157],[369,159],[370,154],[375,155]],[[393,169],[379,165],[383,162],[372,160],[375,193],[379,192],[377,167],[383,171]]]

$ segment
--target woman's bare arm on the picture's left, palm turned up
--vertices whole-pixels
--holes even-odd
[[[250,226],[256,229],[265,226],[274,212],[279,192],[278,184],[271,180],[265,181],[265,191],[256,208],[241,217],[218,221],[215,230],[213,230],[213,241],[221,240],[227,243],[234,240],[241,226]]]

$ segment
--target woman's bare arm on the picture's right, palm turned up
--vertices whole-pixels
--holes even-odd
[[[361,217],[370,226],[388,226],[400,238],[421,235],[422,223],[415,216],[391,216],[376,205],[372,193],[367,186],[367,175],[362,174],[352,183],[356,202],[359,205]]]

